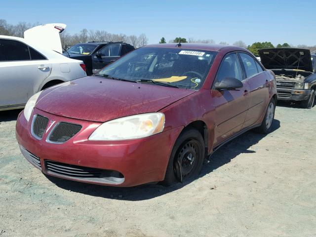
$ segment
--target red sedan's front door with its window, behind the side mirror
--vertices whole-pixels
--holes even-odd
[[[247,115],[250,88],[235,52],[224,56],[214,84],[228,77],[240,80],[243,87],[237,90],[222,91],[212,88],[212,100],[216,111],[215,146],[240,131]]]

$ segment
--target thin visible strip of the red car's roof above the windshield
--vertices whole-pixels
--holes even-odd
[[[198,50],[208,50],[208,51],[245,51],[248,52],[245,48],[232,46],[232,45],[223,45],[223,44],[213,44],[213,43],[181,43],[181,46],[176,46],[177,43],[157,43],[146,45],[145,47],[158,47],[158,48],[185,48],[185,49],[198,49]]]

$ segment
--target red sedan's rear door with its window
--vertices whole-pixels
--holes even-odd
[[[269,76],[250,54],[238,53],[250,87],[249,109],[243,128],[253,125],[265,112],[269,100]]]

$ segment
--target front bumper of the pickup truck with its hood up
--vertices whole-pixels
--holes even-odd
[[[277,100],[302,101],[302,100],[307,100],[311,94],[311,90],[278,88],[278,87],[276,87],[276,90],[277,90]]]

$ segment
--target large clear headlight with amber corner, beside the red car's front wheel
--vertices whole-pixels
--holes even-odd
[[[149,113],[117,118],[101,124],[89,140],[127,140],[149,137],[162,132],[164,114]]]

